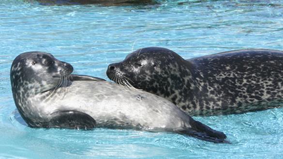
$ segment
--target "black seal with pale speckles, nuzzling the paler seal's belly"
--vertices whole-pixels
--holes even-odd
[[[283,105],[283,51],[247,49],[183,59],[161,47],[134,51],[107,76],[164,97],[190,116],[229,115]]]

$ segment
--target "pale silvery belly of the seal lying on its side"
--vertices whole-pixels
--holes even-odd
[[[96,120],[98,127],[175,128],[188,120],[164,98],[109,82],[74,81],[70,87],[60,89],[57,92],[66,94],[56,101],[54,108],[86,113]],[[49,109],[54,111],[52,107]]]

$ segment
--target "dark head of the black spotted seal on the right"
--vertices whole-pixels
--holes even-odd
[[[189,72],[188,62],[175,52],[161,47],[134,51],[123,61],[108,66],[107,76],[120,84],[131,84],[151,93],[168,97],[169,87],[179,87],[179,80]]]

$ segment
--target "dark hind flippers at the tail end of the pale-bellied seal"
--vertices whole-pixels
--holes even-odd
[[[190,119],[190,125],[192,128],[184,128],[182,130],[176,130],[176,132],[212,143],[229,143],[225,140],[226,135],[223,132],[213,130],[209,128],[209,126],[196,121],[193,118]]]

